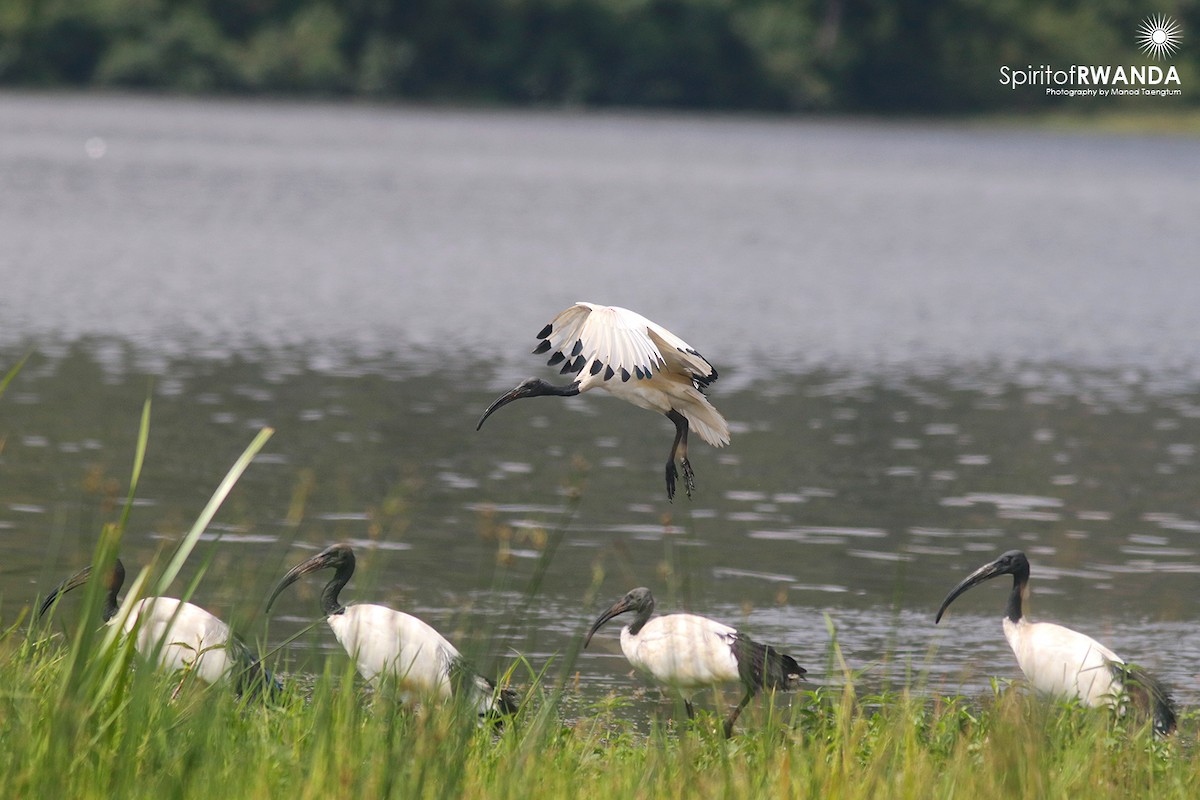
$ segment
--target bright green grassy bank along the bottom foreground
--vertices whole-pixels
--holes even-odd
[[[1174,739],[1015,690],[967,700],[822,688],[762,698],[739,735],[701,714],[618,700],[564,721],[523,687],[520,715],[406,710],[348,660],[271,703],[139,666],[127,646],[12,627],[0,642],[0,775],[10,796],[1013,798],[1200,792],[1186,716]],[[82,638],[80,638],[82,637]]]

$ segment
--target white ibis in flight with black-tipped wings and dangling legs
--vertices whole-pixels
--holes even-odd
[[[538,333],[534,353],[553,351],[550,366],[562,363],[562,374],[575,380],[556,386],[529,378],[487,407],[475,429],[493,411],[523,397],[574,397],[604,389],[637,405],[665,414],[674,422],[676,438],[667,458],[667,499],[674,498],[676,457],[683,465],[684,488],[696,488],[688,462],[688,431],[721,447],[730,444],[730,425],[704,397],[716,380],[716,369],[695,348],[638,313],[616,306],[577,302],[560,312]]]

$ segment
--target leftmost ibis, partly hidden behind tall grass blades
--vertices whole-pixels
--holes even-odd
[[[60,583],[42,601],[37,615],[44,615],[60,595],[85,584],[90,576],[91,567],[86,566]],[[108,625],[118,621],[116,595],[124,583],[125,565],[116,559],[104,587],[103,616]],[[126,636],[136,633],[138,652],[146,658],[157,654],[158,666],[168,672],[186,669],[209,684],[232,678],[239,692],[281,688],[228,625],[193,603],[175,597],[143,597],[130,608],[121,627]]]

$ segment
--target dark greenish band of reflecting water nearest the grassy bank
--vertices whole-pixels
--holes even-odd
[[[304,548],[352,541],[349,599],[416,613],[478,643],[485,662],[562,662],[601,604],[647,584],[664,608],[786,645],[820,681],[839,679],[826,673],[828,618],[868,685],[974,691],[1016,673],[1003,589],[976,590],[938,627],[932,614],[968,570],[1020,547],[1034,615],[1196,693],[1200,402],[1133,373],[718,384],[733,445],[695,447],[697,494],[671,505],[670,425],[607,397],[517,404],[476,433],[492,392],[469,369],[328,374],[234,359],[149,375],[100,357],[86,343],[35,353],[2,399],[7,614],[82,564],[115,517],[149,392],[132,563],[186,531],[260,427],[277,431],[210,530],[220,545],[198,591],[259,636],[263,599]],[[311,619],[319,585],[284,595],[270,642]],[[318,628],[288,657],[314,668],[306,654],[335,646]],[[575,666],[583,699],[626,682],[616,636]]]

